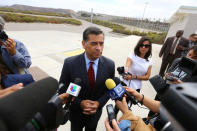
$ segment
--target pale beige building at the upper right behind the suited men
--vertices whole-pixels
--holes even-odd
[[[183,36],[197,33],[197,7],[181,6],[169,19],[170,29],[167,37],[174,36],[177,30],[184,30]],[[166,38],[167,38],[166,37]]]

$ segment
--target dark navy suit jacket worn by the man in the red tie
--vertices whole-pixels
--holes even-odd
[[[60,76],[60,83],[64,83],[67,88],[70,82],[74,82],[76,78],[82,80],[80,86],[81,91],[79,96],[75,98],[73,104],[71,105],[71,111],[82,111],[80,103],[82,100],[94,100],[100,103],[99,109],[101,109],[106,102],[109,100],[107,96],[107,87],[105,86],[105,81],[108,78],[113,78],[115,75],[115,65],[114,62],[104,56],[99,58],[98,70],[96,76],[96,82],[94,84],[94,90],[91,91],[88,82],[88,73],[85,65],[84,53],[69,57],[65,59],[62,73]],[[66,89],[61,91],[66,92]]]

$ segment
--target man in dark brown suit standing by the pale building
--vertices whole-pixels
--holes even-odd
[[[181,53],[188,49],[189,41],[182,37],[183,32],[183,30],[178,30],[176,36],[168,37],[160,50],[159,57],[163,56],[163,58],[159,74],[162,77],[173,60],[181,57]]]

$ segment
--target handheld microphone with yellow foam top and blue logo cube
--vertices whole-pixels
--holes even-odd
[[[115,82],[114,82],[115,81]],[[121,81],[119,78],[114,77],[114,80],[107,79],[105,81],[105,85],[109,89],[107,92],[108,95],[112,100],[122,100],[122,97],[124,94],[128,96],[128,98],[131,100],[133,104],[137,104],[137,100],[134,98],[134,96],[130,95],[121,85]]]

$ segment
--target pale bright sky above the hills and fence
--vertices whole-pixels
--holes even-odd
[[[197,0],[0,0],[0,5],[24,4],[39,7],[90,11],[109,15],[168,19],[182,5],[197,6]]]

